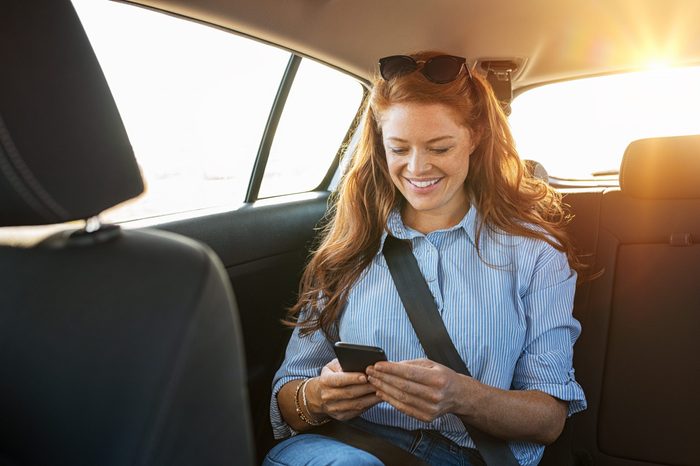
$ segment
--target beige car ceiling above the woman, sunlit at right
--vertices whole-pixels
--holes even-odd
[[[522,63],[514,88],[700,64],[698,0],[136,0],[368,78],[379,57],[442,50]]]

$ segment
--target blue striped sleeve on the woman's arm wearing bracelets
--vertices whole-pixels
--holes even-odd
[[[272,398],[270,399],[270,421],[275,438],[285,438],[296,432],[284,421],[277,403],[280,389],[292,380],[316,377],[323,366],[335,357],[333,346],[320,332],[305,337],[299,335],[299,328],[292,333],[282,365],[272,380]]]

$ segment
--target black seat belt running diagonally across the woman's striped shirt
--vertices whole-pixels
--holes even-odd
[[[428,284],[408,242],[389,235],[382,250],[401,302],[425,354],[432,361],[471,377],[447,333]],[[488,466],[520,466],[508,444],[462,421]]]

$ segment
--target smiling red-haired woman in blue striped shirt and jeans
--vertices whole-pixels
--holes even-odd
[[[480,464],[461,418],[537,464],[567,415],[585,409],[571,367],[580,265],[560,198],[525,173],[493,92],[464,58],[382,59],[362,131],[291,309],[296,328],[273,381],[276,437],[352,420],[433,464]],[[381,254],[387,234],[410,240],[472,377],[425,358]],[[381,347],[389,362],[344,373],[338,340]],[[313,434],[267,461],[341,457],[377,464]]]

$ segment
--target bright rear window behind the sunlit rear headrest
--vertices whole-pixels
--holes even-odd
[[[700,134],[700,68],[667,68],[537,87],[513,101],[520,155],[564,179],[617,177],[635,139]]]

